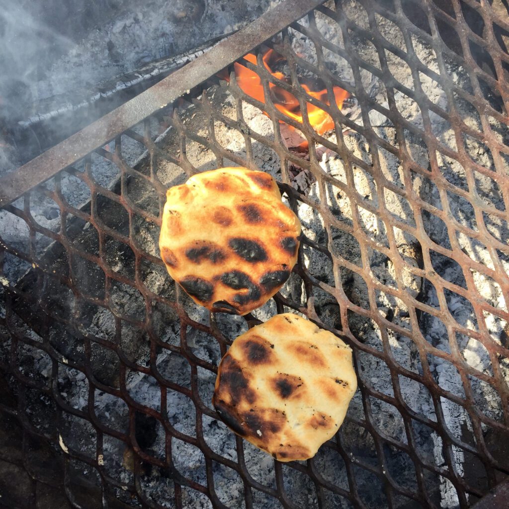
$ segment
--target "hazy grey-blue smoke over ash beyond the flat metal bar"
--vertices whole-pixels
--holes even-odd
[[[103,115],[106,105],[88,104],[137,69],[235,31],[278,2],[0,0],[0,175],[80,129],[84,109],[87,122]]]

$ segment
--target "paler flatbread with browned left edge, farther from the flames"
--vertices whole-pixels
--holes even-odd
[[[233,342],[212,403],[235,433],[275,459],[306,460],[339,429],[356,389],[350,347],[286,313]]]

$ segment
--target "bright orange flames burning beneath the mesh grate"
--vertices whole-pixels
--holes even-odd
[[[248,53],[244,56],[244,59],[252,64],[256,64],[256,56],[252,53]],[[277,79],[282,81],[288,81],[288,78],[278,71],[273,71],[272,66],[278,62],[284,60],[281,55],[278,55],[274,50],[269,49],[263,55],[263,63],[265,68]],[[238,86],[241,88],[243,92],[247,95],[251,96],[253,99],[257,99],[260,102],[265,102],[265,95],[263,91],[262,81],[258,74],[254,71],[251,71],[247,67],[242,64],[235,63],[235,78],[237,80]],[[272,100],[274,102],[275,107],[287,115],[288,117],[293,118],[297,122],[301,123],[302,120],[302,112],[300,110],[299,101],[297,98],[292,95],[290,92],[278,87],[274,83],[269,82],[269,88],[272,93]],[[302,84],[302,88],[306,91],[308,95],[319,99],[323,103],[329,105],[329,101],[327,99],[327,89],[320,90],[318,92],[312,91],[306,84]],[[342,108],[343,101],[349,97],[349,93],[346,90],[343,90],[340,87],[333,87],[334,97],[338,108]],[[318,134],[323,134],[326,131],[334,128],[334,121],[332,117],[323,109],[315,106],[314,104],[306,104],[307,109],[307,117],[309,119],[309,123],[313,126],[315,131]]]

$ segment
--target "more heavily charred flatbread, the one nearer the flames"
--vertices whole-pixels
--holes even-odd
[[[221,168],[168,189],[159,247],[169,275],[195,302],[245,315],[288,279],[299,235],[270,175]]]

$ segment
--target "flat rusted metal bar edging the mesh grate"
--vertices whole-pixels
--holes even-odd
[[[0,206],[12,203],[37,184],[171,104],[320,3],[320,0],[282,2],[150,89],[4,176],[0,179]]]

